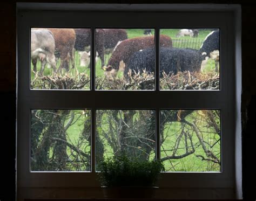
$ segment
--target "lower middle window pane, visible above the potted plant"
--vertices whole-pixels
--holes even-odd
[[[97,110],[96,165],[123,151],[142,160],[155,157],[154,110]]]

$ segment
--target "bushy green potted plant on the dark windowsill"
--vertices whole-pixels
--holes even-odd
[[[106,198],[153,198],[159,174],[165,169],[158,160],[146,161],[122,154],[100,161],[98,171]]]

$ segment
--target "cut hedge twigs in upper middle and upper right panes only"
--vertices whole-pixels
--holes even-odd
[[[129,71],[127,77],[121,78],[97,78],[97,89],[108,90],[153,90],[154,73],[143,73]],[[166,74],[160,78],[160,89],[162,90],[218,90],[219,74],[202,74],[178,72],[177,74]]]

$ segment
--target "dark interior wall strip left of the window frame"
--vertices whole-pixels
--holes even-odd
[[[0,200],[15,200],[16,7],[0,6]]]

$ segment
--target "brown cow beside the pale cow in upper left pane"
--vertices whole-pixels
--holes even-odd
[[[72,68],[75,68],[75,59],[73,48],[76,41],[76,33],[73,29],[60,29],[60,28],[48,28],[55,39],[55,51],[57,57],[60,58],[59,71],[62,68],[69,70],[69,63],[71,59]]]

